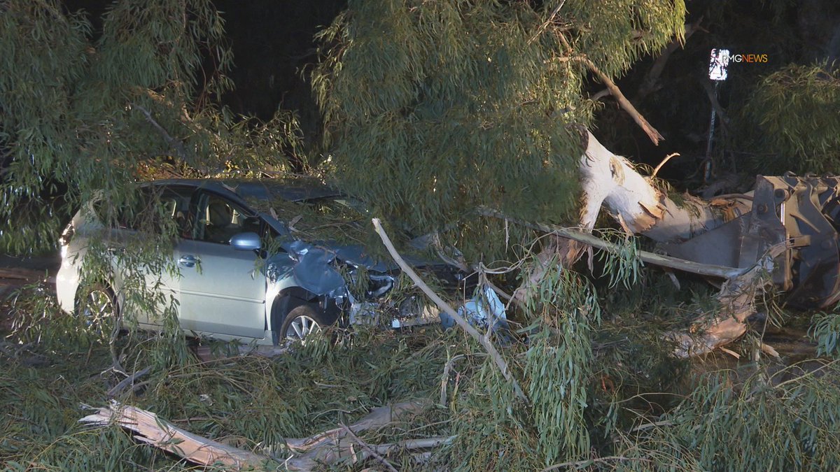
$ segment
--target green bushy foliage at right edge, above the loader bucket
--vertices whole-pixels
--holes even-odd
[[[787,170],[834,173],[840,166],[840,69],[791,64],[756,87],[743,108],[750,165],[764,175]]]

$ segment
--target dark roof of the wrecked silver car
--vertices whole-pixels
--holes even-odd
[[[150,182],[155,186],[194,186],[218,193],[233,193],[242,199],[271,200],[282,198],[287,202],[306,202],[319,198],[342,197],[343,194],[322,181],[310,177],[284,177],[278,179],[167,179]]]

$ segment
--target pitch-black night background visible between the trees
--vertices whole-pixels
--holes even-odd
[[[90,13],[94,29],[110,0],[66,0],[71,11]],[[278,108],[295,111],[307,139],[317,139],[318,109],[307,82],[307,66],[318,59],[313,35],[346,7],[341,0],[214,0],[223,12],[236,89],[224,97],[234,113],[268,119]],[[638,126],[605,97],[595,133],[609,149],[656,165],[664,155],[680,159],[660,176],[696,181],[706,155],[711,102],[706,92],[709,50],[766,54],[766,63],[732,63],[730,78],[719,87],[719,100],[730,126],[718,125],[719,173],[738,170],[738,110],[761,76],[790,63],[811,64],[840,58],[840,2],[837,0],[688,0],[688,22],[701,21],[685,44],[670,56],[657,89],[638,97],[643,77],[655,57],[639,61],[617,84],[665,141],[654,146]],[[96,34],[96,33],[95,33]],[[594,79],[591,93],[604,87]]]

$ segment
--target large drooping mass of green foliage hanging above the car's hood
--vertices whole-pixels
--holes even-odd
[[[350,2],[319,34],[312,76],[339,185],[409,233],[445,228],[491,259],[499,223],[476,207],[574,219],[581,149],[567,124],[593,108],[579,59],[617,76],[682,34],[685,6],[568,2],[550,17],[558,4]]]

